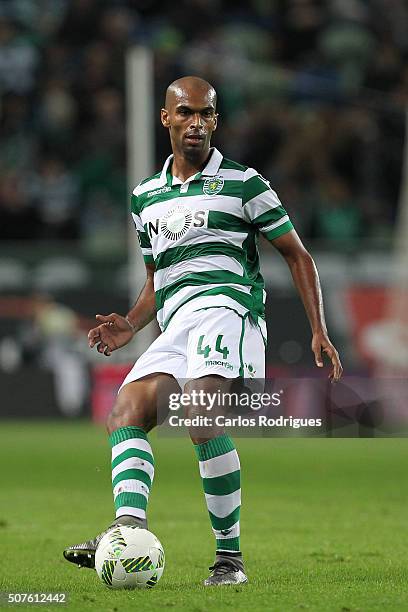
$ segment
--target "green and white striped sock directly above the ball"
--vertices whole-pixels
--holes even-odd
[[[120,427],[110,436],[116,517],[146,519],[154,476],[153,451],[141,427]]]

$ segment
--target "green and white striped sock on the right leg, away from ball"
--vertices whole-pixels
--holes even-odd
[[[241,470],[233,441],[223,434],[194,445],[217,554],[239,553]]]

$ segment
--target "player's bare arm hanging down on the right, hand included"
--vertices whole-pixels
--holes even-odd
[[[291,230],[270,241],[284,257],[291,271],[297,291],[312,328],[312,351],[316,365],[323,367],[322,351],[332,362],[330,378],[339,380],[343,372],[339,354],[329,340],[323,309],[323,297],[319,275],[312,256],[304,247],[295,230]]]

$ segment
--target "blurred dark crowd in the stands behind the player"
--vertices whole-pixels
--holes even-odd
[[[399,0],[2,0],[1,239],[124,230],[124,56],[138,44],[155,52],[157,118],[173,78],[205,75],[219,92],[216,145],[271,180],[304,235],[387,243],[407,31]],[[156,130],[159,167],[168,141]]]

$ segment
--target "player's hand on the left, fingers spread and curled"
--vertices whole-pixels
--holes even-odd
[[[134,336],[129,323],[121,315],[115,312],[110,315],[96,315],[99,322],[97,327],[88,333],[88,344],[90,348],[96,345],[98,353],[109,355],[118,348],[125,346]]]

